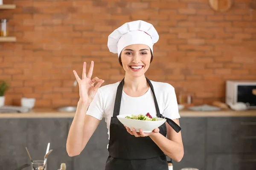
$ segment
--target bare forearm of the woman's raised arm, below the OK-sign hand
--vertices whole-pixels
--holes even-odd
[[[77,105],[76,114],[71,123],[67,136],[67,153],[69,156],[79,155],[83,145],[84,118],[89,105],[82,103],[80,100]]]

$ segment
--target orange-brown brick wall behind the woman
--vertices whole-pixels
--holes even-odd
[[[11,80],[6,104],[35,97],[36,107],[76,105],[72,70],[95,61],[93,76],[105,84],[122,79],[108,35],[123,23],[154,24],[160,40],[147,77],[193,94],[196,104],[224,101],[225,80],[256,79],[256,11],[251,0],[235,0],[215,12],[208,0],[3,0],[17,42],[0,42],[0,79]]]

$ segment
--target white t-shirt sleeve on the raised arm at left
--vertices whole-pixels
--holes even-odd
[[[103,109],[102,93],[100,88],[95,94],[93,101],[90,103],[86,114],[93,116],[96,119],[102,120],[104,116],[104,109]]]

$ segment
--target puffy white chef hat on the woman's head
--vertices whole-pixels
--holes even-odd
[[[154,26],[142,20],[123,24],[108,36],[109,51],[118,54],[123,48],[132,44],[145,44],[153,53],[153,45],[159,40],[159,35]]]

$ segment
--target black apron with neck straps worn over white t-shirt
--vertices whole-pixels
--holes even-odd
[[[147,78],[146,78],[147,79]],[[157,117],[164,118],[160,114],[154,88],[150,80],[147,82],[153,92]],[[110,122],[110,139],[108,144],[109,156],[105,170],[168,170],[166,155],[149,137],[135,137],[129,134],[124,125],[117,119],[119,115],[124,79],[118,85],[114,104],[113,116]],[[176,132],[181,130],[172,119],[166,118],[166,122]],[[166,136],[166,124],[158,127],[163,136]]]

